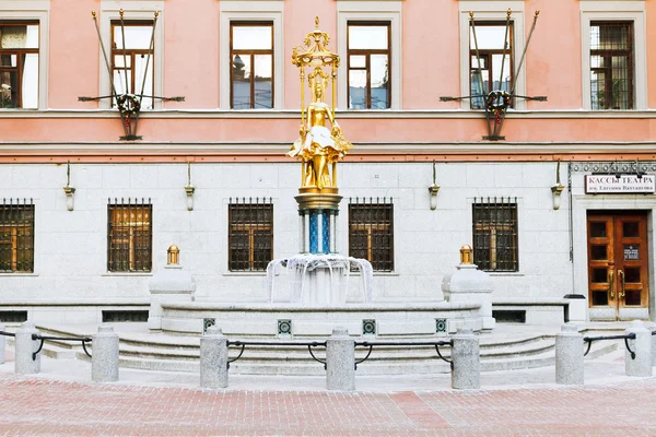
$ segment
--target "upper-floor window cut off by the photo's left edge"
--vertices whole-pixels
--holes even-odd
[[[0,108],[38,108],[39,25],[0,23]]]

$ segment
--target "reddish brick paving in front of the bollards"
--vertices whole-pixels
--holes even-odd
[[[585,387],[336,393],[94,385],[0,374],[0,435],[656,436],[656,378]]]

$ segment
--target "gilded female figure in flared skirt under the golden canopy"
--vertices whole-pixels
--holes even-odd
[[[335,120],[332,108],[324,102],[327,74],[316,68],[309,75],[312,102],[307,105],[307,117],[301,123],[301,137],[294,142],[288,155],[300,157],[304,163],[304,186],[336,187],[335,175],[330,176],[329,166],[343,157],[352,144],[342,134]],[[330,121],[330,129],[326,127]]]

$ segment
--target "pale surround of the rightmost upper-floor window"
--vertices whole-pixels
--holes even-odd
[[[633,109],[647,109],[647,45],[644,0],[579,0],[582,108],[591,108],[590,23],[633,22]],[[597,109],[595,109],[596,111]],[[607,109],[598,109],[607,110]]]

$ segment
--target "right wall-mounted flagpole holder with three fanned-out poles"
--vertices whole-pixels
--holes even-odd
[[[508,31],[512,26],[512,21],[511,21],[512,13],[513,13],[513,11],[508,9],[508,11],[506,13],[504,47],[503,47],[503,52],[502,52],[502,63],[501,63],[501,71],[500,71],[500,78],[499,78],[499,86],[500,87],[502,86],[502,83],[503,83],[506,48],[508,47],[508,33],[509,33]],[[516,71],[513,72],[513,75],[511,76],[512,84],[511,84],[509,91],[493,90],[493,88],[490,91],[487,91],[484,83],[483,83],[482,71],[484,70],[484,68],[483,68],[483,63],[481,62],[481,55],[480,55],[477,34],[476,34],[476,21],[473,20],[473,12],[469,12],[469,25],[471,27],[471,34],[473,36],[473,45],[475,45],[476,61],[477,61],[476,67],[472,68],[472,70],[475,70],[473,71],[475,74],[471,74],[471,78],[473,80],[473,78],[476,76],[477,81],[479,82],[478,90],[480,90],[480,94],[472,94],[472,95],[462,96],[462,97],[440,97],[440,101],[442,101],[442,102],[458,101],[459,102],[459,101],[465,101],[465,99],[482,99],[484,103],[482,106],[485,110],[485,120],[488,123],[488,135],[483,137],[483,140],[490,140],[490,141],[505,140],[505,137],[501,135],[501,128],[503,127],[503,122],[505,120],[507,109],[508,109],[508,107],[512,106],[512,102],[514,98],[524,98],[526,101],[537,101],[537,102],[546,102],[547,101],[546,96],[531,97],[531,96],[523,96],[523,95],[515,94],[515,87],[517,85],[517,78],[519,76],[519,72],[522,71],[522,67],[524,64],[524,58],[526,57],[526,50],[528,49],[528,45],[530,44],[530,38],[536,28],[536,23],[538,22],[539,14],[540,14],[540,11],[536,11],[536,13],[534,15],[532,26],[530,27],[530,32],[528,33],[528,37],[527,37],[526,44],[524,46],[524,51],[522,52],[522,58],[519,59],[519,66],[517,67]],[[469,50],[469,51],[471,51],[471,50]],[[511,50],[511,54],[512,52],[513,51]],[[494,81],[492,81],[492,82],[494,82]],[[490,86],[493,87],[494,83],[491,83]]]

